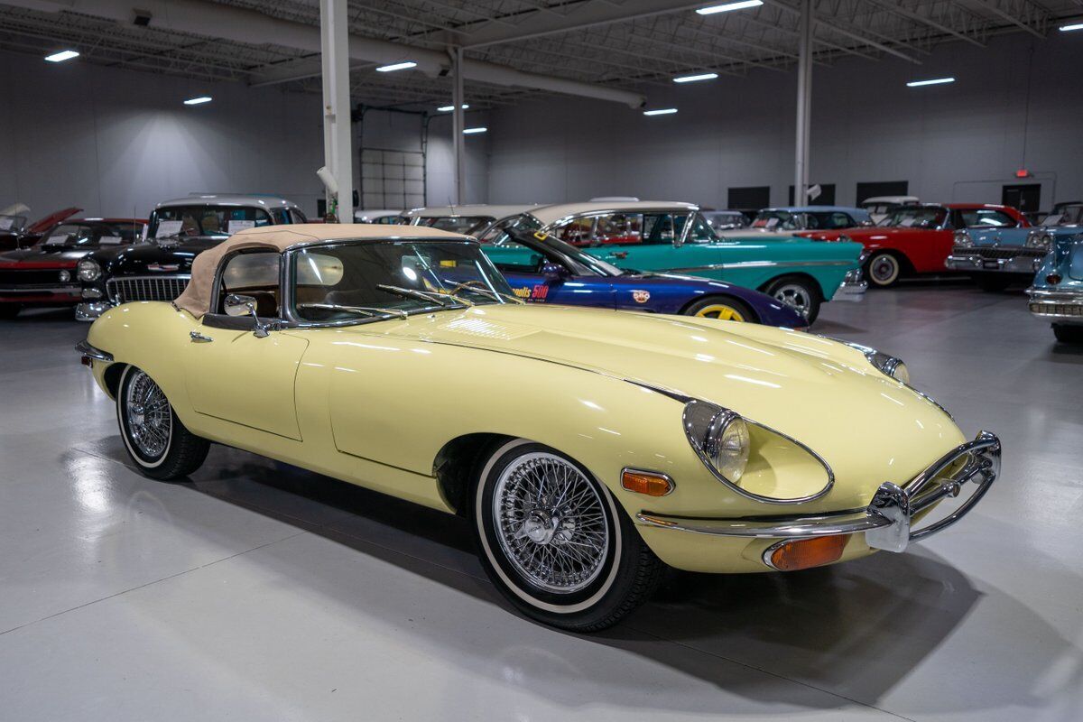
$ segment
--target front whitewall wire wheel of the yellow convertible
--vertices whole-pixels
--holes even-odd
[[[605,486],[547,446],[517,439],[495,449],[472,500],[486,573],[533,619],[605,629],[662,578],[665,565]]]

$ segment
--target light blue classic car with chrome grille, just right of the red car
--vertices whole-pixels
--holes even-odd
[[[993,216],[980,219],[991,225],[956,231],[944,265],[970,274],[987,291],[1002,291],[1013,283],[1025,283],[1039,270],[1058,238],[1080,233],[1081,212],[1083,206],[1064,206],[1047,215],[1042,225],[1029,228],[1003,227]]]

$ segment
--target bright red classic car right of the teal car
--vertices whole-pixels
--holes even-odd
[[[1029,225],[1022,213],[1007,206],[921,204],[900,206],[872,227],[804,231],[797,235],[817,240],[856,240],[864,245],[869,249],[865,278],[873,286],[886,288],[901,276],[942,273],[957,229]]]

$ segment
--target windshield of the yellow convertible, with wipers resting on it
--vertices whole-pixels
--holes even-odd
[[[302,249],[293,310],[312,323],[511,303],[508,281],[469,241],[345,241]],[[382,288],[381,288],[382,287]]]

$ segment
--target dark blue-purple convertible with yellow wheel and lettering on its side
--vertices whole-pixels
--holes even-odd
[[[766,293],[721,280],[618,268],[542,232],[508,229],[482,249],[516,296],[533,303],[808,326],[797,311]]]

